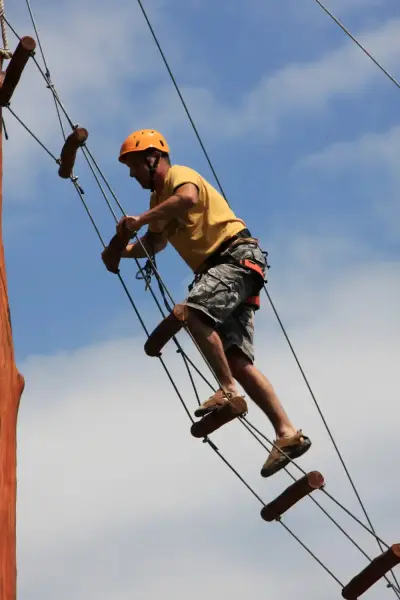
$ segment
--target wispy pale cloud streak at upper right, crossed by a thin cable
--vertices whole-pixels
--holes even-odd
[[[400,21],[393,19],[358,37],[391,68],[400,56],[399,33]],[[289,65],[260,82],[245,103],[243,127],[252,129],[261,122],[273,134],[285,115],[305,111],[315,116],[335,97],[359,94],[376,81],[385,85],[377,67],[347,40],[314,62]]]

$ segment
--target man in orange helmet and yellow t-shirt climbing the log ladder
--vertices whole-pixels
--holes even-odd
[[[147,232],[140,238],[143,246],[124,243],[116,257],[110,245],[102,258],[115,272],[115,260],[145,258],[143,247],[157,253],[170,242],[194,272],[185,301],[186,324],[221,385],[195,415],[204,417],[237,398],[237,381],[272,423],[275,445],[298,458],[311,441],[295,429],[271,384],[254,366],[254,311],[268,267],[265,253],[213,186],[193,169],[171,165],[169,146],[159,132],[132,133],[122,144],[119,161],[152,193],[150,209],[123,217],[117,236],[130,239],[146,225]],[[269,477],[288,462],[273,448],[261,475]]]

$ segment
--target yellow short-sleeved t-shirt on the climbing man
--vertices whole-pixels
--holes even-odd
[[[234,236],[246,225],[236,217],[224,197],[208,181],[193,169],[180,165],[170,167],[162,194],[151,194],[150,208],[167,200],[184,183],[193,183],[198,188],[199,201],[179,219],[168,223],[150,223],[149,231],[166,230],[168,241],[186,264],[196,271],[224,240]]]

